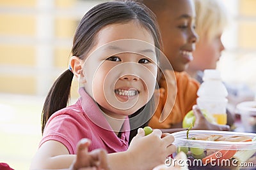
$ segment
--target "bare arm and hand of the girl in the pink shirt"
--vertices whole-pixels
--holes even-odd
[[[175,152],[174,138],[170,134],[155,129],[144,136],[143,129],[140,129],[127,151],[108,154],[110,169],[152,169]],[[46,141],[38,149],[30,169],[67,169],[75,159],[76,155],[68,155],[67,148],[60,142]]]

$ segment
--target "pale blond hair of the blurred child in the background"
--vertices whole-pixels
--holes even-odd
[[[194,0],[196,9],[196,33],[211,39],[223,32],[228,16],[223,4],[218,0]]]

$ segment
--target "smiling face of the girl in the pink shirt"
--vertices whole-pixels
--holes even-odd
[[[101,29],[83,66],[86,92],[100,109],[124,118],[144,106],[156,85],[154,38],[136,21]]]

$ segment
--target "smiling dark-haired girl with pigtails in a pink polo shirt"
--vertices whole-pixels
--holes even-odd
[[[128,148],[128,115],[150,108],[156,84],[160,38],[152,16],[132,1],[102,3],[84,15],[70,69],[45,99],[43,138],[31,169],[68,168],[82,138],[92,141],[89,152],[103,148],[109,153],[109,169],[152,169],[175,151],[173,136],[157,129],[148,136],[138,129]],[[74,75],[80,97],[65,108]]]

